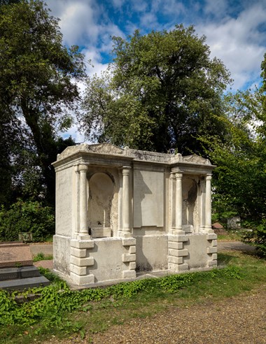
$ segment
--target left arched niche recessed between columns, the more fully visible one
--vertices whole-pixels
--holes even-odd
[[[107,173],[94,173],[89,180],[88,224],[92,236],[111,236],[114,182]]]

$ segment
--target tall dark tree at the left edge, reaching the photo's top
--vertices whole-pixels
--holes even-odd
[[[55,176],[50,164],[60,150],[73,144],[71,139],[59,140],[57,132],[69,128],[69,114],[76,111],[76,81],[85,76],[83,55],[76,46],[62,45],[58,20],[42,1],[7,2],[0,6],[1,131],[10,146],[3,156],[11,165],[21,160],[21,151],[11,149],[15,133],[20,149],[34,157],[48,202],[53,203]],[[5,175],[8,169],[10,165]]]

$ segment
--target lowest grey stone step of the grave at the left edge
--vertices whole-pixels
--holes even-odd
[[[34,287],[45,287],[49,285],[49,280],[44,276],[21,278],[17,280],[0,281],[0,289],[23,290]]]

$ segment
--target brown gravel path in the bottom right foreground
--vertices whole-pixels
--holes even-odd
[[[94,334],[90,341],[79,343],[263,344],[266,343],[266,285],[219,302],[184,309],[173,306],[152,318],[111,327]]]

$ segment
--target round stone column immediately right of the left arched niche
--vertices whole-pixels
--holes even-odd
[[[130,166],[123,166],[123,233],[131,234],[130,229]]]

